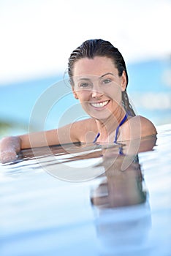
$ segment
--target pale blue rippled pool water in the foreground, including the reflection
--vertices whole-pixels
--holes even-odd
[[[171,255],[171,125],[157,129],[138,156],[68,145],[1,164],[0,255]]]

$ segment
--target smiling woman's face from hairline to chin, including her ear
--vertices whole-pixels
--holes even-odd
[[[126,88],[126,75],[118,76],[112,59],[80,59],[75,62],[73,75],[72,91],[89,116],[101,120],[115,115],[121,105],[121,91]]]

